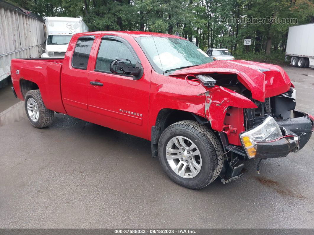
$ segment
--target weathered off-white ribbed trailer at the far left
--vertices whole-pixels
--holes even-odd
[[[12,59],[38,58],[44,45],[42,18],[0,0],[0,88],[8,83]]]

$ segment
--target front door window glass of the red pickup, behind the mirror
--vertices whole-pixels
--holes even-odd
[[[136,65],[136,60],[125,44],[114,39],[103,39],[98,51],[95,70],[110,72],[110,64],[116,59],[127,59],[134,67]]]

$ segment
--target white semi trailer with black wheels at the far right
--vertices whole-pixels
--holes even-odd
[[[293,67],[314,68],[314,23],[289,27],[285,56]]]

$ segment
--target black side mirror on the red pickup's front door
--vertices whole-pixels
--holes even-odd
[[[110,72],[117,74],[133,75],[135,78],[142,75],[143,68],[141,65],[133,67],[130,60],[116,59],[110,64]],[[140,78],[140,77],[139,77]],[[139,79],[137,78],[137,79]],[[135,80],[137,80],[135,79]]]

